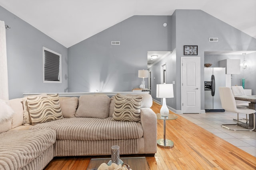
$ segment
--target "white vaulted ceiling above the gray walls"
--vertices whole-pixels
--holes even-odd
[[[256,0],[0,0],[0,6],[65,47],[131,16],[176,9],[203,10],[256,38]]]

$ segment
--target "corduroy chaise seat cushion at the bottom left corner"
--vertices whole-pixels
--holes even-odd
[[[8,131],[0,134],[0,169],[22,169],[56,141],[52,129]]]

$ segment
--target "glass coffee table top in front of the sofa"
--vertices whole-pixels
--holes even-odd
[[[120,158],[125,164],[128,164],[132,170],[149,170],[146,157],[126,157]],[[110,158],[92,158],[86,170],[97,170],[100,164],[106,163],[111,160]]]

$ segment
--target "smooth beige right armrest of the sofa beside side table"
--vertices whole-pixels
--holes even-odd
[[[142,107],[140,121],[143,128],[145,154],[156,153],[157,148],[157,119],[156,113],[148,107]]]

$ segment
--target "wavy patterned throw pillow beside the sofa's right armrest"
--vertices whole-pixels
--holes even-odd
[[[142,96],[115,95],[113,121],[135,121],[140,122],[140,106]]]

